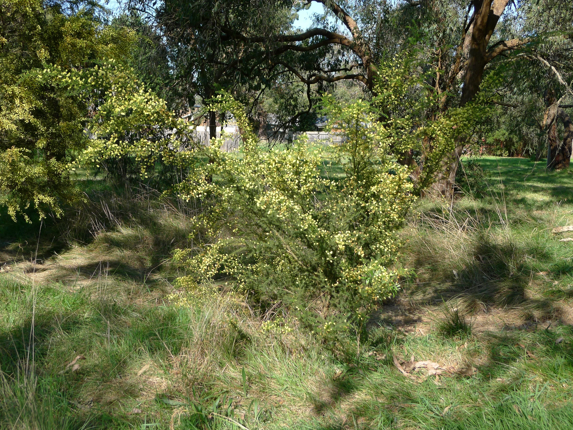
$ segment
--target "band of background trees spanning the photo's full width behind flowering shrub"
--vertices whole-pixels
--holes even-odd
[[[85,87],[86,73],[109,58],[176,115],[228,91],[261,136],[269,115],[280,130],[315,130],[327,92],[339,101],[383,99],[380,67],[397,56],[409,62],[406,80],[423,76],[423,97],[431,102],[409,110],[422,96],[403,93],[402,107],[379,108],[379,120],[408,116],[411,130],[457,115],[484,78],[497,74],[503,79],[488,89],[488,120],[476,119],[451,151],[438,154],[443,145],[431,132],[419,134],[415,148],[394,148],[418,189],[433,182],[451,196],[458,159],[476,142],[500,154],[548,154],[548,167],[568,166],[573,11],[566,0],[319,3],[324,13],[300,30],[293,26],[297,13],[311,2],[132,0],[112,15],[96,2],[3,1],[3,201],[11,213],[30,204],[44,213],[77,198],[68,165],[87,146],[87,124],[111,85]],[[71,75],[42,75],[48,65]],[[197,120],[214,137],[224,116],[204,109]],[[441,164],[430,169],[436,157]]]

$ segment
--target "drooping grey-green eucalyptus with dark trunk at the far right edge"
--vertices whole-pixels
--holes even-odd
[[[547,140],[547,167],[567,167],[571,157],[567,108],[573,100],[573,8],[565,0],[523,2],[505,17],[500,33],[535,41],[528,49],[497,62],[506,71],[505,99],[517,111],[500,111],[500,127],[529,129],[529,135],[536,128],[536,137],[544,138],[537,139],[539,143]],[[535,152],[539,160],[541,147]]]

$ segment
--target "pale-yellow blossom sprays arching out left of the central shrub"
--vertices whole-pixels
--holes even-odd
[[[78,165],[104,170],[117,182],[145,179],[155,165],[189,164],[193,128],[167,110],[166,103],[140,82],[131,68],[104,62],[92,72],[101,103],[89,123],[93,139],[79,155]],[[97,80],[103,80],[96,84]],[[185,148],[185,151],[182,149]]]

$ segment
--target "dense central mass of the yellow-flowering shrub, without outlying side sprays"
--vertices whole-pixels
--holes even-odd
[[[362,322],[393,295],[399,273],[397,230],[414,197],[406,167],[389,153],[388,130],[364,101],[325,97],[332,125],[346,142],[320,149],[299,140],[265,150],[244,109],[227,95],[213,110],[232,112],[242,132],[238,153],[210,151],[210,163],[180,183],[194,202],[198,245],[175,253],[189,294],[205,286],[246,293],[262,310],[277,304],[308,327]],[[331,166],[344,174],[331,177]]]

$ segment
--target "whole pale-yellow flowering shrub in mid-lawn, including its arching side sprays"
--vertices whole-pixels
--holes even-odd
[[[186,273],[178,280],[185,291],[179,303],[225,289],[248,294],[271,317],[278,309],[293,312],[325,333],[362,326],[372,307],[397,290],[394,233],[414,200],[411,167],[397,158],[421,154],[419,191],[487,110],[476,101],[422,120],[436,100],[406,60],[380,67],[379,96],[371,102],[323,97],[332,129],[346,139],[332,146],[303,139],[264,149],[244,107],[222,93],[205,109],[234,116],[243,142],[235,153],[220,151],[221,140],[195,143],[193,126],[175,118],[128,68],[104,64],[107,86],[89,126],[93,139],[79,158],[146,182],[158,166],[178,172],[172,189],[162,191],[174,190],[194,208],[193,245],[175,253]]]

